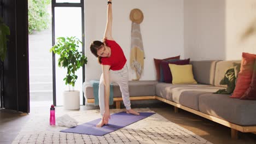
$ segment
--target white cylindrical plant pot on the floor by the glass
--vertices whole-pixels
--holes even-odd
[[[79,91],[65,91],[63,92],[63,101],[65,110],[80,109],[80,92]]]

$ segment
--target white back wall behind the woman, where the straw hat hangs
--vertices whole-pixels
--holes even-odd
[[[153,58],[166,58],[184,53],[183,37],[183,1],[177,0],[114,0],[113,38],[123,48],[130,65],[131,21],[130,11],[139,8],[144,14],[141,33],[146,59],[144,73],[140,80],[155,80]],[[101,66],[90,52],[90,43],[103,38],[106,26],[107,2],[102,0],[85,1],[85,53],[86,81],[100,79]],[[130,80],[135,73],[130,69]]]

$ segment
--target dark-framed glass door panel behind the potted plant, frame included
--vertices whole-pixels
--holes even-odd
[[[84,0],[53,0],[53,45],[59,37],[77,37],[83,42],[79,51],[84,53]],[[68,91],[63,79],[67,69],[58,67],[59,55],[53,53],[53,97],[54,105],[63,105],[64,91]],[[74,89],[80,91],[80,105],[84,104],[83,82],[85,78],[84,67],[77,71],[78,79]]]

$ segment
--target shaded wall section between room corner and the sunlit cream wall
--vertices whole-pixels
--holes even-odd
[[[224,0],[184,0],[184,55],[191,60],[225,58]]]

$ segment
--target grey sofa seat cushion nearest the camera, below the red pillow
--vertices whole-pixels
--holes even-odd
[[[199,95],[199,110],[239,125],[256,125],[256,101],[229,98],[226,94]]]

